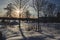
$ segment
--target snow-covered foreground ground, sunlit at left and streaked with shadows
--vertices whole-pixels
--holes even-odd
[[[28,25],[29,24],[29,25]],[[37,23],[24,23],[21,24],[21,30],[24,34],[24,36],[30,40],[60,40],[60,30],[56,29],[55,27],[59,27],[59,23],[40,23],[40,27],[42,29],[42,33],[34,31],[34,27],[37,25]],[[32,30],[28,31],[27,28],[33,27]],[[23,39],[23,36],[21,35],[21,32],[19,31],[18,25],[11,25],[6,26],[4,29],[0,29],[3,33],[3,36],[5,36],[6,40],[21,40]],[[32,37],[32,38],[31,38]]]

